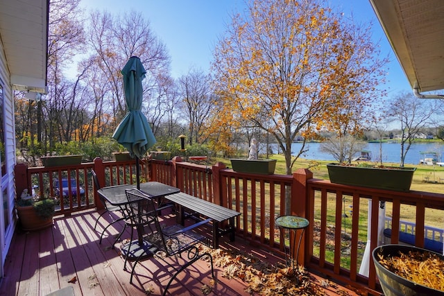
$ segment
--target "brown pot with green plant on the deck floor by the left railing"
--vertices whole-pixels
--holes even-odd
[[[52,198],[19,198],[15,202],[15,209],[24,231],[40,230],[53,224],[55,202]]]

